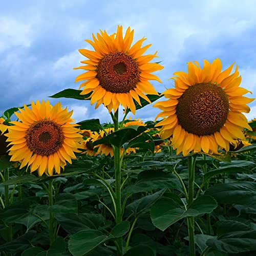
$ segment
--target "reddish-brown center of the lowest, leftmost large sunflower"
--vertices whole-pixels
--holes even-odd
[[[62,146],[64,135],[61,126],[51,120],[34,122],[27,131],[28,148],[37,155],[50,156]]]

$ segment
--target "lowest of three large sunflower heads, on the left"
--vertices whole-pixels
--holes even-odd
[[[14,125],[6,134],[10,161],[20,161],[20,169],[30,166],[31,173],[38,169],[39,176],[52,176],[54,169],[59,174],[66,161],[76,159],[74,152],[80,152],[82,135],[70,118],[73,111],[62,109],[60,102],[52,106],[48,100],[32,101],[31,109],[24,105],[24,110],[18,110],[15,114],[20,121],[10,122]]]

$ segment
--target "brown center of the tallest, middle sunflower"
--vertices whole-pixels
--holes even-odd
[[[103,57],[97,67],[100,86],[112,93],[128,93],[139,82],[139,66],[128,54],[114,52]]]

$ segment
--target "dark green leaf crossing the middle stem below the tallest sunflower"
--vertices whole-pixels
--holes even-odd
[[[114,146],[121,147],[125,142],[137,137],[145,130],[146,127],[142,125],[131,125],[123,127],[122,129],[95,141],[93,145],[95,146],[98,144],[112,144]]]

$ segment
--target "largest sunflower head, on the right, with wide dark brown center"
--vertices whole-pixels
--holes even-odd
[[[174,73],[175,88],[163,93],[168,100],[154,106],[163,111],[156,117],[164,118],[157,123],[162,126],[161,137],[173,136],[172,146],[177,154],[218,154],[218,146],[229,151],[229,142],[245,139],[244,127],[251,131],[242,112],[250,111],[246,104],[253,99],[243,96],[249,91],[239,87],[238,66],[230,74],[233,65],[221,72],[218,58],[211,64],[204,60],[202,69],[197,61],[190,61],[188,73]]]

